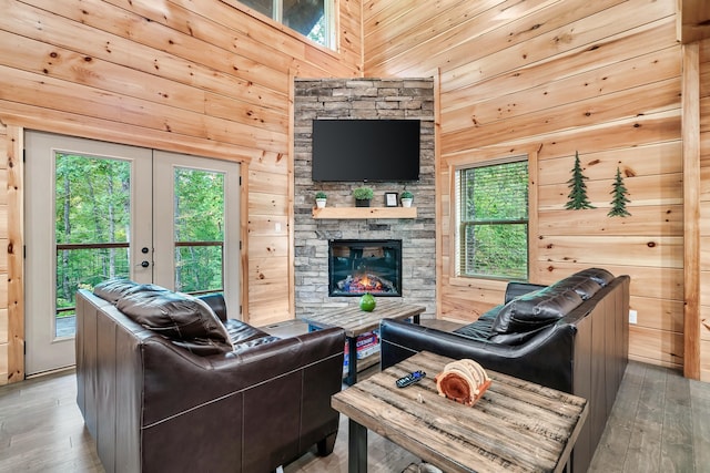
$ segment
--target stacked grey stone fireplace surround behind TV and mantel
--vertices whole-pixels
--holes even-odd
[[[296,80],[294,93],[294,241],[296,317],[356,304],[354,297],[328,297],[328,240],[402,239],[402,300],[436,313],[436,227],[433,79]],[[311,179],[313,120],[418,119],[422,123],[419,181],[367,183],[372,206],[384,207],[385,192],[414,194],[417,217],[314,219],[315,193],[328,195],[328,207],[354,207],[353,188],[362,183]]]

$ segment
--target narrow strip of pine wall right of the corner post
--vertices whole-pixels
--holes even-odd
[[[700,42],[700,379],[710,381],[710,40]]]

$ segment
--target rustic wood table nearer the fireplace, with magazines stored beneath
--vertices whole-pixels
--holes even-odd
[[[382,319],[404,320],[412,318],[414,323],[419,323],[419,316],[425,310],[426,307],[424,306],[377,299],[377,306],[372,312],[366,312],[358,305],[355,305],[306,316],[303,320],[317,328],[341,327],[345,330],[349,357],[345,383],[353,385],[357,382],[357,336],[378,328]]]

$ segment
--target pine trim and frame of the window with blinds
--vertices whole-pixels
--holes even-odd
[[[483,274],[474,274],[467,275],[460,270],[460,257],[462,257],[462,236],[464,235],[464,230],[468,226],[476,225],[490,225],[490,224],[527,224],[527,276],[525,279],[516,277],[515,280],[530,280],[530,276],[534,273],[534,261],[536,260],[537,248],[532,245],[535,238],[537,238],[537,214],[535,213],[537,209],[537,187],[535,183],[537,183],[537,153],[534,151],[525,151],[517,150],[515,153],[510,153],[507,151],[505,154],[507,156],[500,157],[500,153],[496,156],[495,151],[491,154],[485,154],[481,156],[477,156],[477,160],[466,160],[462,163],[452,163],[450,166],[450,228],[453,230],[453,238],[450,239],[450,278],[452,284],[454,285],[469,285],[468,281],[471,279],[484,279],[484,280],[493,280],[493,281],[507,281],[514,279],[511,276],[506,275],[483,275]],[[528,165],[528,212],[527,212],[527,220],[524,219],[507,219],[507,220],[478,220],[476,223],[473,222],[463,222],[462,213],[464,212],[464,203],[462,195],[462,182],[460,176],[462,173],[478,167],[489,167],[496,165],[504,165],[510,163],[518,162],[527,162]]]

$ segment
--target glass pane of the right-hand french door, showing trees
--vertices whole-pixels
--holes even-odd
[[[175,290],[224,288],[224,174],[175,168]]]

